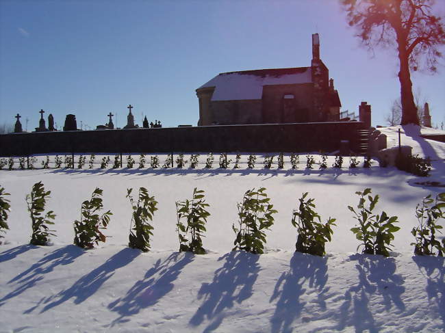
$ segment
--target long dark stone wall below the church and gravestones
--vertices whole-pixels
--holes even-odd
[[[170,127],[0,135],[0,156],[67,152],[331,152],[348,140],[357,151],[362,122]]]

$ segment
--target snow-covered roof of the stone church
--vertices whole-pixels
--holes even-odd
[[[312,83],[310,67],[221,73],[198,89],[215,87],[212,101],[237,101],[261,99],[264,85],[298,83]]]

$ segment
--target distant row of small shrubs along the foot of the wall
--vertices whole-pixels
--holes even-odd
[[[198,166],[198,163],[199,163],[199,156],[200,156],[199,154],[190,155],[190,169],[196,169],[196,167]],[[275,155],[266,155],[264,157],[263,165],[264,165],[265,169],[272,168],[272,165],[274,163],[274,158],[275,158]],[[290,166],[292,169],[298,169],[298,164],[300,163],[299,159],[300,159],[299,155],[295,155],[295,154],[290,155]],[[241,155],[237,154],[235,161],[233,161],[233,169],[240,168],[240,160],[241,160]],[[253,155],[253,154],[249,155],[249,157],[247,158],[247,168],[249,168],[249,169],[255,168],[256,161],[257,161],[256,155]],[[5,167],[7,167],[8,170],[12,170],[12,169],[14,169],[15,163],[16,162],[14,161],[14,159],[12,157],[10,157],[8,159],[1,158],[0,159],[0,170],[2,170]],[[21,170],[35,169],[36,163],[37,163],[36,157],[27,157],[27,158],[19,157],[18,158],[18,168]],[[42,168],[49,169],[49,163],[50,163],[49,156],[47,156],[44,159],[44,161],[42,161]],[[102,157],[102,159],[99,162],[96,162],[96,155],[92,154],[92,155],[90,155],[88,161],[86,159],[86,156],[84,156],[84,155],[79,155],[78,160],[74,161],[73,157],[69,156],[69,155],[65,155],[63,158],[60,157],[59,155],[55,155],[55,159],[54,159],[53,163],[54,163],[54,168],[56,168],[56,169],[58,169],[58,168],[83,169],[86,167],[88,167],[89,169],[92,169],[92,168],[94,168],[95,163],[100,163],[100,168],[106,169],[106,168],[109,168],[109,165],[111,165],[111,159],[110,159],[110,157],[105,156],[105,157]],[[164,164],[162,165],[162,168],[175,168],[175,164],[176,164],[176,168],[181,169],[181,168],[185,168],[187,163],[189,163],[189,161],[185,159],[183,154],[177,155],[176,159],[174,159],[173,154],[169,154],[169,155],[167,155],[166,160],[165,160]],[[232,160],[227,158],[227,153],[220,154],[219,168],[228,169],[228,168],[230,168],[231,163],[232,163]],[[363,167],[370,168],[371,163],[372,163],[372,161],[371,161],[370,157],[366,157],[363,162]],[[114,157],[114,162],[112,163],[112,168],[113,169],[121,168],[121,167],[123,167],[123,164],[124,163],[122,161],[122,156],[116,155]],[[212,152],[210,152],[207,155],[207,159],[205,160],[205,168],[212,169],[213,164],[214,164],[214,155]],[[316,164],[316,161],[314,159],[314,156],[306,155],[306,168],[313,169],[315,164]],[[320,170],[325,170],[326,168],[328,168],[327,155],[322,154],[321,161],[318,164],[319,164]],[[335,155],[335,162],[332,164],[332,167],[333,168],[342,168],[343,164],[344,164],[343,157],[340,155]],[[131,168],[135,168],[135,166],[136,166],[137,168],[142,169],[142,168],[147,168],[148,165],[150,168],[153,168],[153,169],[160,168],[159,157],[157,157],[157,155],[150,156],[150,161],[147,161],[146,156],[141,154],[139,156],[138,163],[136,163],[136,160],[133,159],[133,157],[131,157],[131,155],[127,155],[127,157],[126,157],[126,163],[125,163],[126,168],[131,169]],[[284,155],[281,152],[279,155],[277,155],[277,169],[283,169],[284,165],[285,165]],[[357,161],[357,157],[351,156],[349,158],[348,167],[349,168],[357,168],[358,165],[359,165],[359,162]]]

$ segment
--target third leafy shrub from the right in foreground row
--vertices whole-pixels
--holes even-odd
[[[298,238],[295,244],[297,252],[323,256],[325,244],[331,241],[333,234],[332,226],[335,226],[335,219],[329,217],[325,224],[322,224],[320,215],[315,211],[314,199],[306,199],[307,192],[298,199],[300,205],[292,212],[292,226],[297,229]]]

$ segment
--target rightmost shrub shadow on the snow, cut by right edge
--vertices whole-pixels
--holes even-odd
[[[440,317],[442,318],[442,330],[445,331],[445,258],[437,256],[414,256],[414,262],[420,271],[427,274],[428,298],[437,303]],[[440,295],[440,296],[439,296]]]

